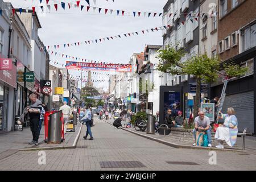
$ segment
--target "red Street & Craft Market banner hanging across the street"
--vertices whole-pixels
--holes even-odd
[[[77,70],[99,70],[99,71],[115,71],[115,72],[131,72],[131,64],[97,64],[97,63],[80,63],[66,61],[67,69],[77,69]]]

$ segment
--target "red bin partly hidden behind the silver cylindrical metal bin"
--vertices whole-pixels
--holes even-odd
[[[64,141],[64,122],[62,111],[47,111],[44,115],[44,142],[60,143]]]

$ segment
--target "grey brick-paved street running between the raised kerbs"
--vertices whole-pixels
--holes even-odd
[[[46,165],[38,164],[39,151],[20,151],[0,160],[0,170],[256,169],[256,156],[253,154],[217,151],[217,165],[210,165],[209,151],[168,147],[127,131],[114,129],[108,123],[98,121],[96,117],[94,119],[96,120],[96,126],[92,128],[94,140],[82,138],[86,130],[86,126],[83,126],[77,148],[45,151]],[[125,166],[126,164],[123,163],[122,168],[102,168],[104,167],[102,162],[137,162],[141,166],[131,168],[132,164]],[[198,165],[168,164],[167,162],[193,162]]]

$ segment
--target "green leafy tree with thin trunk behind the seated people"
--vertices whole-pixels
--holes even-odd
[[[181,58],[185,55],[183,51],[177,51],[175,47],[160,49],[157,56],[160,61],[158,70],[170,73],[171,75],[193,75],[196,79],[196,98],[193,105],[193,115],[197,115],[200,107],[200,86],[202,82],[214,82],[218,74],[226,77],[240,77],[245,74],[247,68],[241,68],[234,63],[221,64],[218,57],[209,58],[207,53],[193,56],[191,59],[181,63]],[[224,71],[221,73],[220,71]]]

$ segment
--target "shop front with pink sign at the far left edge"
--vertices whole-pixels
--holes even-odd
[[[16,67],[12,64],[11,70],[0,70],[0,133],[13,129],[15,88]]]

